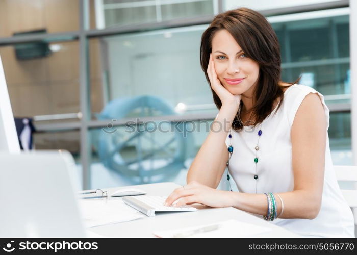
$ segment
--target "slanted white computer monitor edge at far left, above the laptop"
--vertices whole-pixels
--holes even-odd
[[[0,151],[20,152],[8,87],[0,56]]]

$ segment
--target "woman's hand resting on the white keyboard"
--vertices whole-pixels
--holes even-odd
[[[166,199],[166,206],[172,205],[177,201],[175,207],[191,205],[192,203],[201,203],[209,207],[230,207],[231,191],[216,190],[209,186],[192,181],[189,184],[175,189]]]

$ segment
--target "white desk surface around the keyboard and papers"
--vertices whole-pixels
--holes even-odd
[[[156,183],[125,187],[143,189],[147,192],[147,195],[168,196],[175,188],[180,187],[180,185],[175,183]],[[107,190],[110,195],[117,189],[118,188],[110,188],[103,190]],[[108,199],[121,198],[109,197]],[[104,237],[155,237],[155,235],[152,234],[154,231],[172,230],[174,228],[191,227],[215,223],[217,221],[236,219],[272,229],[271,232],[260,234],[256,237],[299,237],[282,227],[265,221],[263,218],[258,218],[233,207],[210,208],[199,204],[192,206],[199,210],[194,212],[157,213],[154,217],[144,217],[129,222],[98,226],[90,228],[89,230]]]

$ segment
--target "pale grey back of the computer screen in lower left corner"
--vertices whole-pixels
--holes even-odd
[[[0,238],[85,237],[68,151],[0,151]]]

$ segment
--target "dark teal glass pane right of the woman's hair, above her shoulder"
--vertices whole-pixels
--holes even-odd
[[[273,27],[282,45],[283,80],[302,75],[301,83],[323,95],[350,93],[348,15],[273,23]]]

